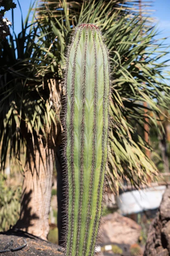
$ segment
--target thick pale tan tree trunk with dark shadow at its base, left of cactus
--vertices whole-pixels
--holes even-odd
[[[23,181],[20,219],[16,227],[47,239],[51,202],[55,147],[45,147],[39,139],[27,140],[26,166]]]

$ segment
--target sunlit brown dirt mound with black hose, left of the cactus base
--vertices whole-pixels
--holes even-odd
[[[24,240],[23,240],[24,239]],[[0,233],[0,250],[4,250],[8,242],[13,240],[13,245],[8,249],[14,249],[20,247],[22,244],[27,243],[26,247],[17,251],[9,251],[0,253],[2,256],[61,256],[63,254],[63,248],[57,244],[52,244],[48,241],[38,239],[36,237],[30,237],[24,232],[8,231],[6,233]]]

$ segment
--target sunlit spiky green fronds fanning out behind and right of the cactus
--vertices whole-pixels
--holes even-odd
[[[113,5],[117,1],[39,3],[48,9],[49,14],[46,15],[39,6],[37,12],[41,13],[41,17],[46,17],[46,23],[44,18],[40,22],[48,28],[50,20],[54,35],[57,38],[59,36],[61,67],[63,49],[68,44],[71,26],[77,23],[95,23],[100,26],[108,45],[113,66],[108,169],[112,188],[117,190],[123,179],[139,186],[158,177],[156,165],[145,155],[145,149],[152,151],[152,148],[138,133],[138,127],[143,129],[146,120],[149,120],[148,125],[155,125],[161,132],[163,127],[158,125],[161,124],[159,116],[170,100],[170,81],[163,76],[168,66],[166,61],[161,61],[168,49],[161,40],[155,39],[156,28],[148,24],[146,19],[141,20],[141,16],[136,14],[139,10],[133,8],[123,12],[120,6],[115,10]],[[51,48],[51,52],[53,50]],[[147,107],[144,102],[147,102]]]

